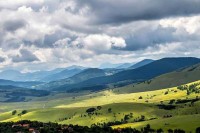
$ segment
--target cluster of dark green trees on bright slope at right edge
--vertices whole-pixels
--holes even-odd
[[[191,93],[200,93],[200,87],[198,87],[200,83],[194,83],[191,85],[181,85],[178,86],[177,89],[179,90],[186,90],[187,95],[190,95]]]

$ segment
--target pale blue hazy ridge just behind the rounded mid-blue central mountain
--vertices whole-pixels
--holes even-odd
[[[43,79],[41,79],[41,81],[51,82],[51,81],[66,79],[66,78],[72,77],[72,76],[80,73],[81,71],[82,71],[82,69],[79,69],[79,68],[65,69],[59,73],[48,75],[48,76],[44,77]]]

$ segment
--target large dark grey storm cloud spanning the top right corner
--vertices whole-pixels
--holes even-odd
[[[200,13],[200,0],[77,0],[100,24],[154,20]]]

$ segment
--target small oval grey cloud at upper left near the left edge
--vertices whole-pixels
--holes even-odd
[[[3,24],[5,31],[14,32],[17,29],[23,28],[26,25],[24,20],[9,20]]]

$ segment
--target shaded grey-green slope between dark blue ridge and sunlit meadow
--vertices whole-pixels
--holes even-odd
[[[187,68],[178,69],[176,71],[160,75],[140,84],[130,84],[115,89],[117,93],[133,93],[143,91],[153,91],[179,86],[200,80],[200,64],[192,65]]]

